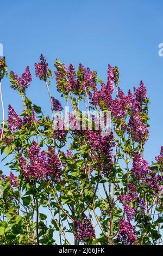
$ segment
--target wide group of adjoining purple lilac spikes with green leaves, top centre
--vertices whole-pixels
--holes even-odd
[[[59,92],[68,94],[74,92],[74,94],[84,94],[90,88],[96,87],[96,74],[93,73],[90,68],[84,68],[80,63],[77,72],[72,64],[66,67],[65,63],[58,61],[55,62],[54,66],[57,71],[54,72],[56,75],[57,88]]]

